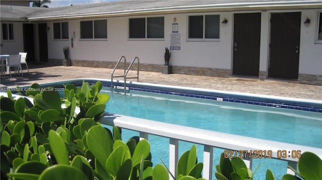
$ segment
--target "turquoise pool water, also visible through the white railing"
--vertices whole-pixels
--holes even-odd
[[[105,110],[107,112],[322,148],[322,115],[318,112],[139,91],[131,91],[123,95],[111,93],[106,87],[102,92],[109,94],[111,98],[107,103]],[[122,131],[124,141],[134,135],[139,134],[130,130]],[[151,144],[152,162],[162,163],[159,160],[161,158],[169,167],[169,138],[149,135],[148,140]],[[192,144],[180,141],[179,155],[189,150]],[[198,159],[202,161],[203,146],[197,145],[197,148]],[[221,152],[223,149],[214,149],[214,166],[219,163]],[[268,168],[272,169],[277,179],[286,173],[286,161],[254,159],[253,170],[258,164],[261,165],[254,179],[263,179]],[[215,179],[214,176],[213,179]]]

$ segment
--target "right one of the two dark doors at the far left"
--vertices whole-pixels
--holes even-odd
[[[39,23],[39,59],[40,62],[48,62],[48,45],[47,45],[47,23]]]

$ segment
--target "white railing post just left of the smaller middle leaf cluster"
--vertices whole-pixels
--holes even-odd
[[[175,177],[177,177],[177,164],[179,159],[179,140],[170,138],[169,146],[169,170]]]

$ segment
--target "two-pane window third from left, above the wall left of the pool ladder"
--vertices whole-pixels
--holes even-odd
[[[81,21],[81,39],[107,39],[107,21]]]

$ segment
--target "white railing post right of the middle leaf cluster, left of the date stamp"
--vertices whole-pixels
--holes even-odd
[[[212,179],[213,147],[203,146],[203,178]]]

